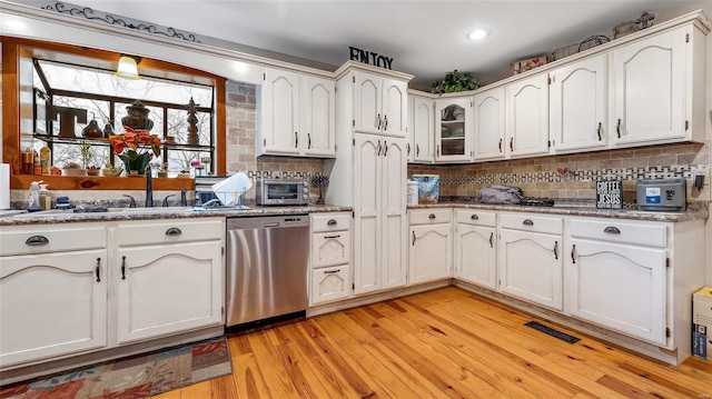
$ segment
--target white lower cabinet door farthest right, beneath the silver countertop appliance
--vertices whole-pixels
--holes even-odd
[[[572,239],[566,312],[665,345],[665,250]]]

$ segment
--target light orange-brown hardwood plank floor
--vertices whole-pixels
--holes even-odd
[[[188,398],[711,398],[712,362],[672,367],[525,327],[455,287],[229,336],[233,375]]]

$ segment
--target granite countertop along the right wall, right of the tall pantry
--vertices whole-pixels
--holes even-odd
[[[596,218],[632,219],[681,222],[688,220],[706,219],[710,210],[706,202],[691,202],[684,212],[651,212],[637,209],[596,209],[595,207],[554,206],[554,207],[525,207],[520,205],[490,205],[473,202],[442,202],[431,205],[408,206],[408,209],[428,208],[457,208],[457,209],[485,209],[494,211],[514,211],[548,213],[561,216],[585,216]]]

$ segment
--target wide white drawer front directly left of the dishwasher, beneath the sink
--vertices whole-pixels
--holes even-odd
[[[221,240],[222,220],[141,220],[116,228],[115,242],[120,247],[187,241]]]

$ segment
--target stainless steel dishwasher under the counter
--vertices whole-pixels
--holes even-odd
[[[306,310],[309,216],[227,219],[227,326]]]

